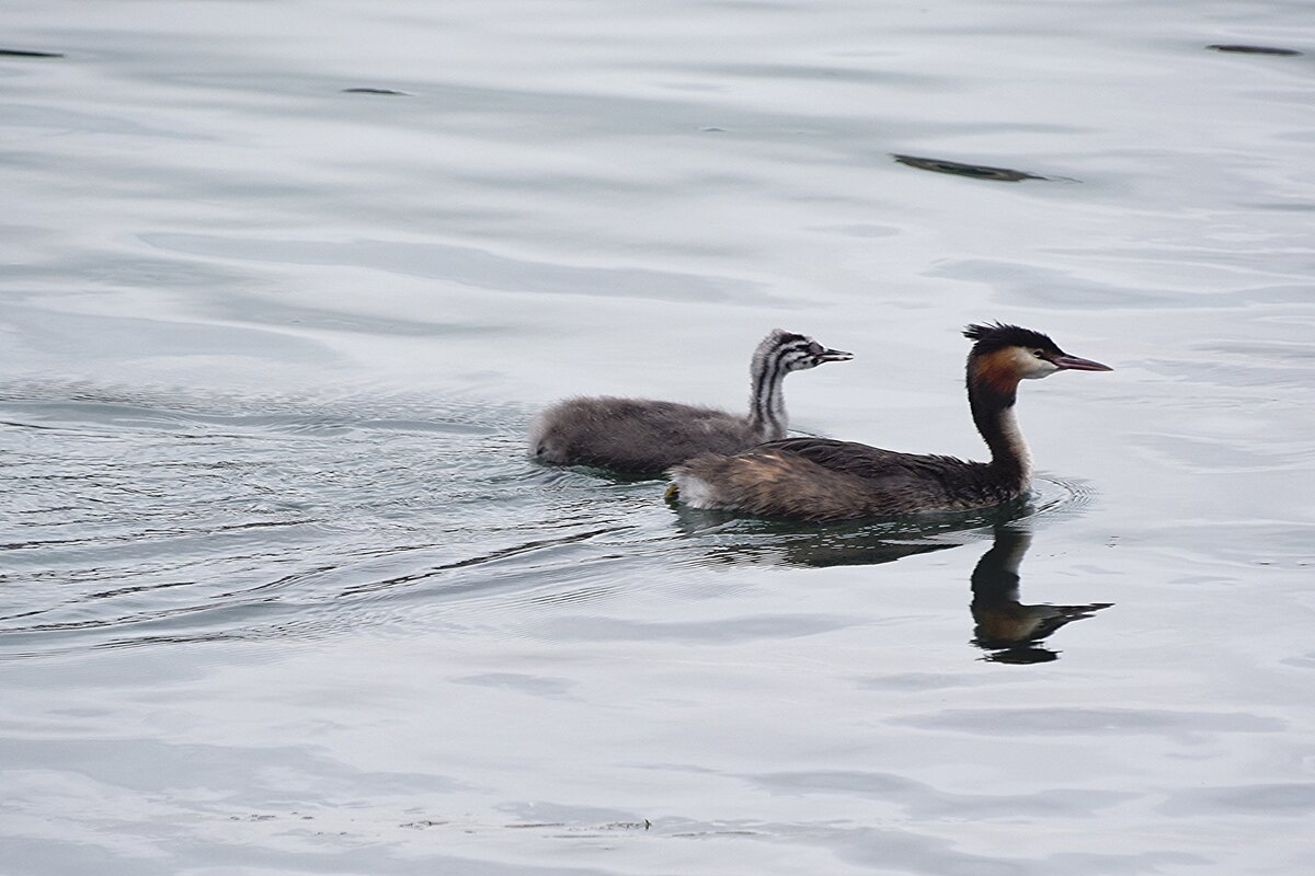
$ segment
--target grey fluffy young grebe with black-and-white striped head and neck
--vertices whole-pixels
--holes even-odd
[[[753,351],[748,416],[642,398],[568,398],[535,420],[530,454],[550,465],[659,475],[700,453],[739,453],[785,437],[786,374],[849,359],[852,353],[777,328]]]

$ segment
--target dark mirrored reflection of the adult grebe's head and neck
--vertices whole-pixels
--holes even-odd
[[[1090,617],[1112,603],[1088,605],[1024,605],[1019,602],[1018,567],[1032,544],[1032,533],[995,527],[995,544],[973,569],[973,644],[995,663],[1045,663],[1059,651],[1040,642],[1064,624]]]

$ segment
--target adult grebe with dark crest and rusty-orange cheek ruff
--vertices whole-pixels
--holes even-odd
[[[1109,366],[1061,351],[1018,326],[968,326],[968,405],[990,462],[881,450],[852,441],[801,437],[730,456],[705,453],[671,469],[679,496],[696,508],[767,517],[843,520],[1001,504],[1027,489],[1032,460],[1014,419],[1020,380]]]

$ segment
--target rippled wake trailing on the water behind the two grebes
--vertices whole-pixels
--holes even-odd
[[[500,565],[625,529],[527,489],[522,414],[210,402],[7,394],[5,653],[306,634],[326,598],[359,611],[320,623],[379,623],[383,591],[496,587]]]

